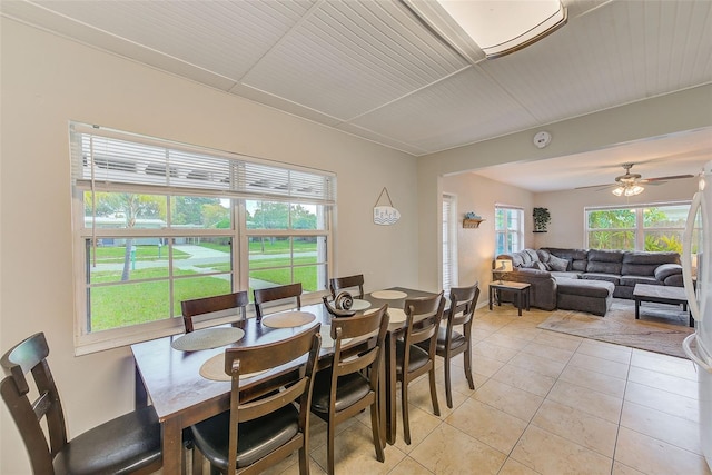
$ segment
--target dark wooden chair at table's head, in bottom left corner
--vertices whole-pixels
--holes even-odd
[[[47,363],[48,355],[44,334],[38,333],[0,358],[0,365],[9,374],[0,383],[0,393],[20,431],[32,472],[51,475],[149,474],[158,471],[162,466],[161,433],[151,406],[67,439],[65,414]],[[38,394],[33,402],[29,399],[30,385],[26,378],[30,372],[34,382],[32,393]]]

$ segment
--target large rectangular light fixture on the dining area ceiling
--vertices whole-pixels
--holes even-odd
[[[566,24],[568,19],[566,7],[560,0],[404,1],[471,61],[473,55],[463,51],[467,49],[466,41],[456,38],[453,21],[491,59],[541,40]]]

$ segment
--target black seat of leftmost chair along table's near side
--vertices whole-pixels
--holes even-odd
[[[192,426],[195,444],[211,465],[227,471],[230,413],[218,414]],[[299,410],[284,406],[260,418],[241,423],[237,428],[239,448],[237,467],[253,465],[287,444],[299,432]]]

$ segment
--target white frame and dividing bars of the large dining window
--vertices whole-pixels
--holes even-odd
[[[308,181],[314,179],[314,188],[317,189],[316,192],[312,192],[313,190],[307,190],[307,187],[304,186],[301,189],[298,189],[297,192],[291,192],[293,189],[296,189],[297,186],[293,186],[289,182],[289,189],[285,191],[284,188],[279,189],[278,187],[273,187],[273,189],[259,189],[257,192],[250,192],[246,186],[246,177],[239,176],[237,171],[230,171],[230,181],[240,182],[237,189],[233,184],[229,184],[230,189],[225,185],[225,179],[220,182],[206,181],[206,188],[201,188],[202,181],[192,180],[188,184],[188,180],[182,180],[180,184],[170,184],[169,177],[165,177],[167,184],[161,186],[155,182],[120,182],[121,177],[119,177],[119,181],[111,181],[111,179],[107,180],[95,180],[95,171],[92,170],[89,177],[87,174],[87,167],[96,167],[93,164],[88,165],[89,161],[95,161],[93,158],[98,156],[92,156],[87,159],[86,156],[80,155],[85,148],[82,147],[81,137],[100,137],[107,138],[107,140],[127,140],[131,144],[137,144],[140,148],[141,146],[156,146],[156,147],[166,147],[167,156],[170,150],[179,150],[181,154],[194,154],[198,159],[200,157],[206,157],[209,161],[210,159],[216,159],[218,161],[227,164],[227,167],[230,170],[236,170],[238,167],[243,167],[241,170],[246,170],[249,167],[251,168],[250,179],[258,179],[255,177],[259,177],[259,171],[267,170],[268,172],[281,174],[289,177],[297,177],[296,179],[304,179],[306,182],[309,182],[309,187],[312,187],[312,182]],[[73,318],[73,327],[75,327],[75,353],[77,355],[93,353],[98,350],[120,347],[130,345],[137,342],[142,342],[147,339],[158,338],[167,335],[174,335],[184,331],[182,319],[180,318],[180,309],[178,311],[172,311],[174,315],[162,318],[155,321],[141,323],[129,325],[125,327],[117,327],[100,331],[90,331],[88,330],[88,326],[90,325],[89,319],[91,318],[88,309],[88,289],[90,288],[88,273],[89,273],[89,263],[87,263],[87,239],[100,239],[102,237],[113,237],[113,238],[190,238],[190,237],[227,237],[231,240],[231,271],[226,271],[222,274],[230,274],[233,281],[233,290],[238,291],[240,289],[249,288],[249,271],[248,271],[248,261],[249,261],[249,247],[248,239],[249,236],[254,236],[256,234],[263,232],[274,236],[275,234],[279,234],[280,236],[324,236],[326,241],[326,249],[324,254],[325,258],[325,276],[323,279],[328,281],[328,278],[332,274],[332,269],[334,267],[334,259],[332,254],[332,241],[333,241],[333,217],[335,215],[336,207],[336,175],[330,171],[316,170],[307,167],[298,167],[291,164],[281,164],[271,160],[258,159],[254,157],[248,157],[244,155],[230,154],[219,150],[207,149],[204,147],[197,146],[187,146],[185,144],[172,142],[168,140],[150,138],[145,136],[137,136],[130,132],[122,132],[113,129],[106,129],[101,127],[88,126],[79,122],[70,122],[70,145],[71,145],[71,154],[70,158],[72,161],[72,179],[71,179],[71,197],[72,197],[72,273],[73,273],[73,283],[75,283],[75,318]],[[170,150],[168,150],[170,149]],[[168,159],[167,159],[168,160]],[[247,164],[247,167],[245,167]],[[156,175],[154,172],[149,174],[148,167],[152,165],[146,166],[146,176],[137,177],[137,180],[144,179],[146,181],[156,180],[155,177],[149,177],[149,175]],[[100,167],[100,165],[99,165]],[[110,167],[106,167],[110,168]],[[98,167],[97,167],[98,169]],[[168,174],[170,170],[170,174]],[[255,171],[257,170],[257,171]],[[100,170],[106,171],[106,170]],[[126,170],[123,170],[126,171]],[[122,172],[123,172],[122,171]],[[106,171],[107,175],[110,175],[109,171]],[[257,175],[256,175],[257,174]],[[116,174],[117,176],[121,174]],[[126,174],[123,174],[126,175]],[[140,175],[140,174],[139,174]],[[166,174],[174,177],[174,169],[168,168],[166,166]],[[270,177],[267,175],[267,177]],[[128,178],[131,179],[130,177]],[[164,178],[160,178],[161,180]],[[324,180],[324,188],[318,188],[318,180]],[[178,180],[176,180],[178,181]],[[296,181],[295,181],[296,182]],[[186,186],[188,185],[188,186]],[[217,189],[216,189],[217,188]],[[229,200],[229,214],[230,214],[230,228],[195,228],[195,229],[186,229],[179,227],[171,227],[170,225],[162,226],[156,229],[149,228],[107,228],[102,229],[96,226],[95,221],[90,219],[92,225],[87,226],[85,222],[85,192],[86,191],[116,191],[116,192],[136,192],[140,195],[154,195],[159,197],[167,197],[170,199],[172,196],[200,196],[200,197],[212,197]],[[307,195],[319,195],[316,198]],[[250,230],[247,228],[246,224],[246,207],[245,202],[247,200],[277,200],[285,201],[288,204],[309,204],[317,205],[322,207],[323,210],[323,219],[324,219],[324,229],[280,229],[280,230]],[[167,205],[168,209],[170,209],[170,205]],[[170,212],[170,211],[168,211]],[[170,222],[170,221],[168,221]],[[169,246],[169,249],[172,249]],[[168,249],[167,249],[168,250]],[[90,254],[90,253],[89,253]],[[176,276],[172,275],[170,267],[172,266],[174,260],[168,260],[169,276],[167,280],[170,284],[170,303],[169,305],[174,305],[174,294],[172,294],[172,283],[176,281]],[[208,274],[206,274],[207,276]],[[197,275],[196,277],[199,277]],[[320,280],[319,280],[320,281]],[[315,298],[316,295],[324,294],[324,290],[317,288],[314,293]],[[176,315],[178,314],[178,315]],[[225,320],[229,320],[230,317],[225,317]],[[218,320],[215,320],[219,323]]]

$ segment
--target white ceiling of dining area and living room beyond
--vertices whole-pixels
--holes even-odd
[[[399,0],[2,0],[0,12],[414,156],[712,82],[712,1],[563,3],[566,26],[494,60],[466,59]],[[696,136],[561,158],[551,169],[583,169],[576,186],[607,182],[625,161],[647,160],[633,169],[644,177],[679,175],[679,166],[665,171],[661,149],[699,161],[712,133]],[[605,172],[594,176],[601,157]],[[517,180],[503,167],[483,174]],[[532,177],[517,186],[562,182]]]

